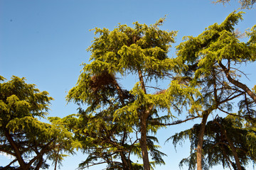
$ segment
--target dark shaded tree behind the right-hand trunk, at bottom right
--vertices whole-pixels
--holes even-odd
[[[170,139],[176,146],[178,142],[189,138],[191,140],[191,155],[180,162],[188,165],[188,169],[196,167],[196,147],[198,134],[201,125],[194,125],[193,128],[176,133]],[[255,135],[250,135],[255,131],[245,128],[240,116],[228,115],[220,118],[218,115],[206,125],[205,139],[203,142],[203,169],[223,164],[223,168],[238,169],[235,157],[240,159],[241,169],[245,169],[248,162],[255,160]],[[253,145],[250,143],[254,141]]]

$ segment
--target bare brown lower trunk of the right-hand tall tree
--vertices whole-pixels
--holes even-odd
[[[202,170],[202,154],[203,154],[203,135],[206,129],[206,122],[209,113],[203,114],[203,120],[201,122],[200,131],[198,135],[198,148],[196,154],[197,170]]]

